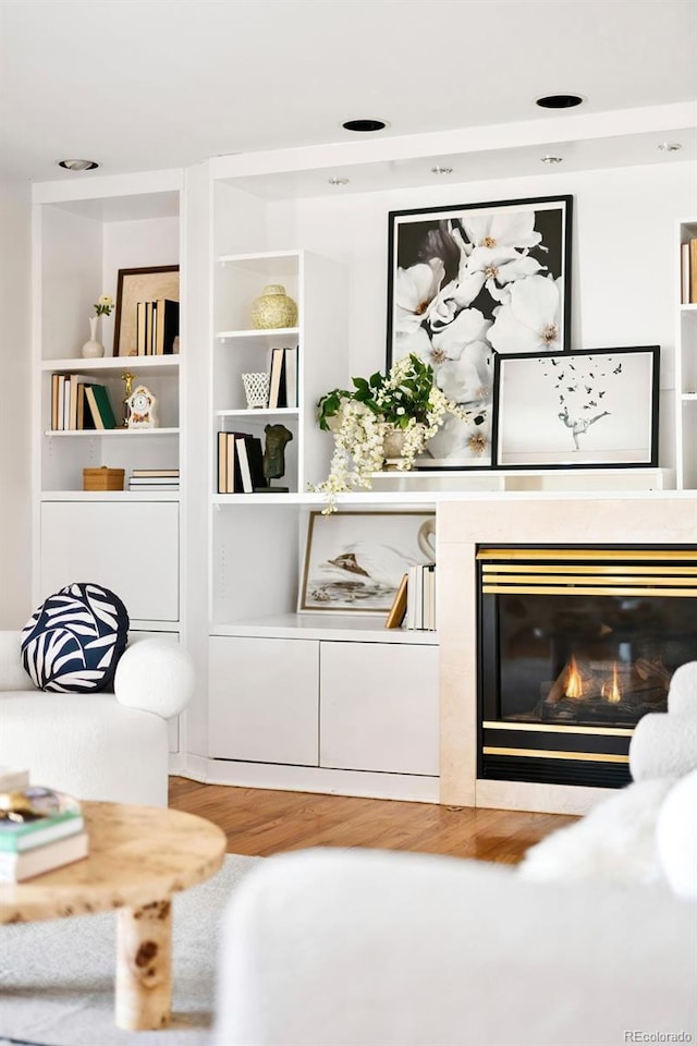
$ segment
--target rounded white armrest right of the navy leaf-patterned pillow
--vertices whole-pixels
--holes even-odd
[[[172,719],[194,694],[194,662],[174,640],[139,640],[121,656],[113,692],[121,705]]]

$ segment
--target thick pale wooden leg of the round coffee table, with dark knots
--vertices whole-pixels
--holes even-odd
[[[117,1027],[169,1024],[172,1007],[172,905],[152,901],[117,912]]]

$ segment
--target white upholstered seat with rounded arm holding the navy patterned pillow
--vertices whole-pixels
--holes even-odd
[[[0,765],[29,770],[78,799],[166,806],[167,720],[188,704],[189,656],[173,640],[134,637],[113,692],[36,690],[22,666],[21,632],[0,632]]]

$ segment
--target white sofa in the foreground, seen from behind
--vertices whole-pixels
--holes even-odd
[[[697,664],[681,669],[680,683],[695,694]],[[674,713],[655,720],[661,737]],[[697,701],[680,715],[697,721]],[[650,732],[643,728],[637,753],[660,747]],[[264,862],[225,914],[213,1043],[694,1043],[697,770],[665,793],[657,820],[677,874],[667,866],[660,885],[535,881],[518,868],[380,851]],[[606,802],[621,811],[625,796]]]

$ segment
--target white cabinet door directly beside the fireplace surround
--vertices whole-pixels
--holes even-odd
[[[320,766],[438,776],[438,648],[321,644]]]

